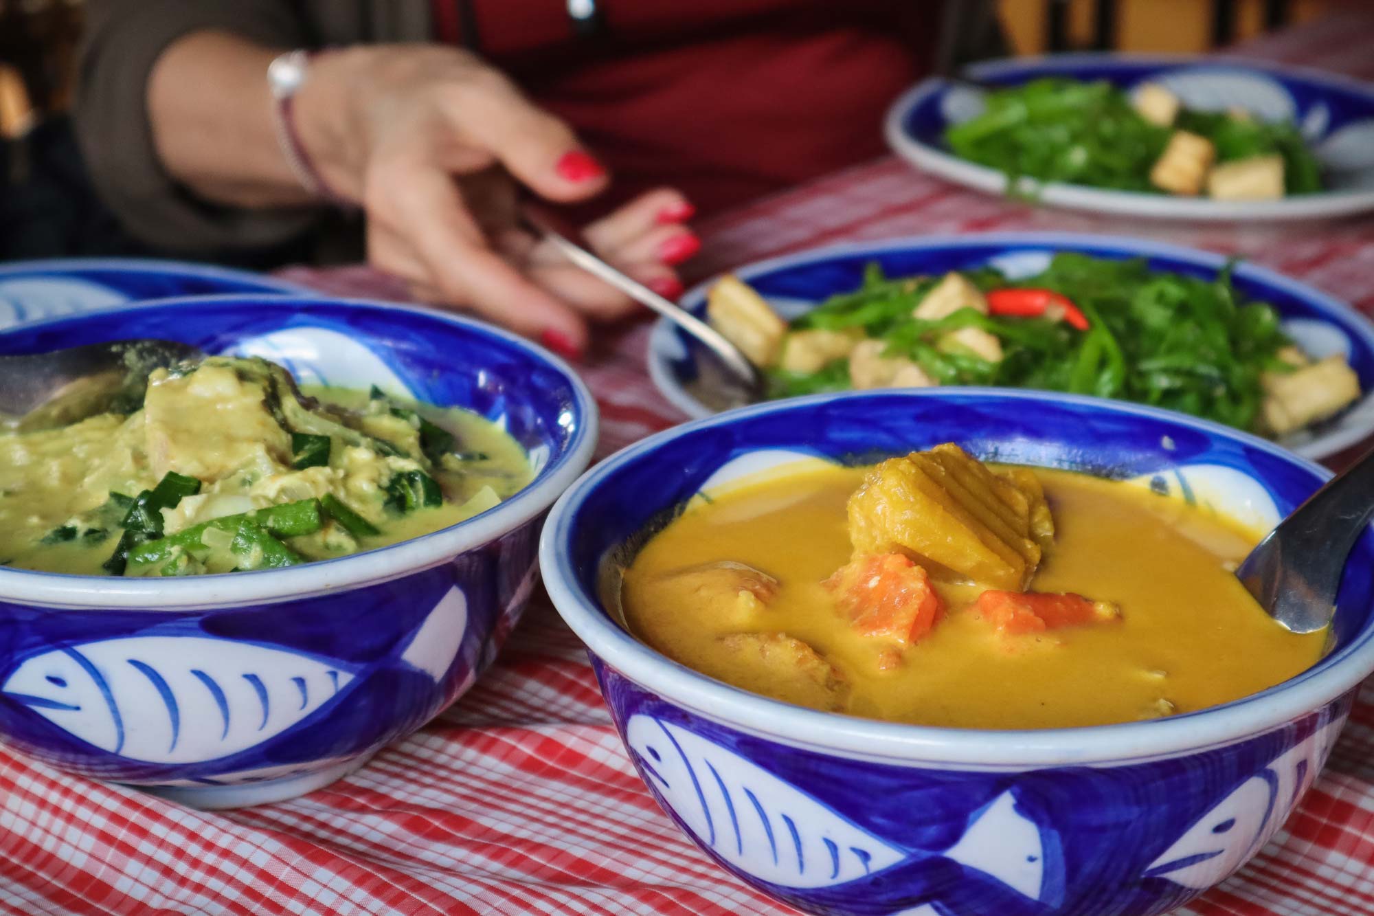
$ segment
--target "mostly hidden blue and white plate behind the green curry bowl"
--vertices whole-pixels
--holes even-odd
[[[207,264],[153,259],[0,263],[0,329],[150,298],[220,293],[309,293],[284,281]]]

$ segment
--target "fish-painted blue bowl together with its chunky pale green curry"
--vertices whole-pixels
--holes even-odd
[[[595,404],[511,334],[348,300],[164,300],[0,356],[135,338],[205,356],[129,351],[113,397],[0,428],[0,737],[199,807],[308,792],[493,659]]]

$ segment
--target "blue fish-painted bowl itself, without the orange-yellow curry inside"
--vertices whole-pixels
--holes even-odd
[[[1374,532],[1351,556],[1334,648],[1315,667],[1127,725],[995,732],[805,710],[668,660],[603,600],[646,527],[703,488],[800,457],[868,462],[948,440],[1257,524],[1327,476],[1260,439],[1118,402],[980,388],[816,396],[679,426],[599,464],[550,513],[544,582],[589,646],[650,792],[771,897],[856,916],[1171,910],[1274,835],[1374,671]]]

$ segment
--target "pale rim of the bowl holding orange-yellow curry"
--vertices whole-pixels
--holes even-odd
[[[588,649],[638,685],[679,703],[698,715],[763,737],[826,754],[908,763],[960,763],[980,767],[1054,766],[1079,763],[1125,763],[1200,751],[1259,734],[1320,708],[1356,686],[1374,671],[1374,620],[1366,623],[1349,645],[1330,653],[1315,666],[1259,693],[1220,706],[1164,719],[1096,725],[1068,729],[993,730],[904,725],[863,719],[837,712],[820,712],[772,700],[716,681],[649,648],[611,620],[610,615],[581,589],[570,558],[573,517],[588,494],[617,468],[662,444],[699,429],[728,425],[743,417],[804,410],[870,393],[885,397],[1006,397],[1098,407],[1190,426],[1257,448],[1271,457],[1311,470],[1320,479],[1329,470],[1300,458],[1274,443],[1220,424],[1168,410],[1084,395],[1061,395],[1010,388],[912,389],[905,392],[842,392],[741,407],[675,426],[598,464],[554,503],[540,538],[540,567],[544,586],[559,615]],[[666,506],[665,506],[666,508]],[[605,556],[605,554],[603,554]],[[823,737],[818,737],[823,736]]]

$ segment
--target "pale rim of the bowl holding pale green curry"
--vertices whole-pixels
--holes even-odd
[[[125,579],[118,576],[85,576],[0,567],[0,601],[54,609],[137,608],[147,611],[185,611],[249,602],[275,604],[356,589],[365,585],[376,585],[438,565],[466,550],[480,547],[515,530],[545,510],[591,462],[592,450],[596,447],[599,414],[596,402],[583,380],[573,371],[572,366],[543,347],[484,322],[416,305],[401,305],[367,298],[282,293],[177,296],[129,303],[126,305],[100,309],[100,312],[109,314],[111,311],[148,307],[239,301],[245,297],[251,297],[254,303],[330,303],[419,315],[429,320],[456,325],[477,336],[485,336],[507,347],[519,349],[555,369],[567,380],[583,422],[574,432],[567,448],[555,461],[550,462],[528,487],[486,512],[418,538],[352,553],[345,557],[316,560],[286,569],[225,572],[188,576],[184,579]],[[60,315],[38,322],[26,322],[22,326],[16,326],[15,330],[29,333],[43,325],[55,325],[80,318],[81,315]],[[5,331],[0,331],[0,336]]]

